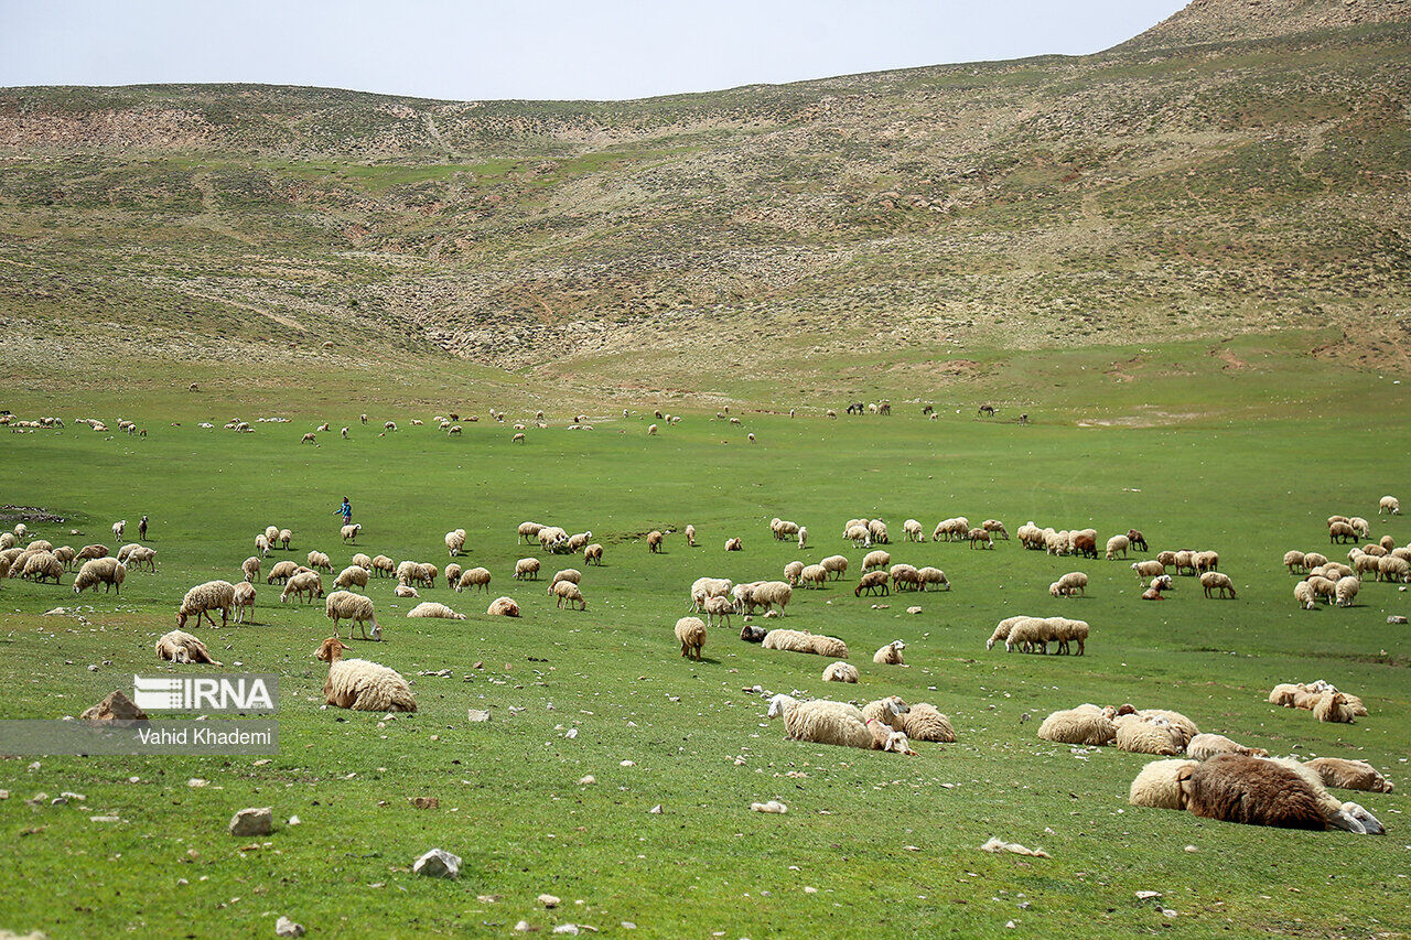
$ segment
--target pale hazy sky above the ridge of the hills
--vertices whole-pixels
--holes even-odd
[[[625,99],[1085,54],[1184,0],[0,0],[0,86]]]

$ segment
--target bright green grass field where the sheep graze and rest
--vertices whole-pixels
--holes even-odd
[[[354,655],[412,680],[413,716],[384,723],[380,713],[322,709],[326,668],[313,651],[330,632],[323,604],[281,605],[278,589],[261,584],[254,624],[195,632],[227,668],[279,673],[281,752],[268,764],[0,759],[8,790],[0,929],[271,936],[275,917],[288,915],[310,936],[505,936],[521,919],[543,932],[579,923],[607,936],[755,940],[1405,936],[1411,830],[1403,810],[1411,805],[1400,790],[1411,785],[1411,646],[1407,628],[1386,621],[1411,613],[1411,603],[1395,586],[1367,582],[1353,608],[1301,611],[1280,563],[1290,548],[1340,558],[1346,549],[1326,545],[1324,519],[1333,512],[1369,517],[1376,536],[1411,541],[1411,517],[1376,518],[1383,494],[1411,498],[1404,398],[1370,375],[1331,374],[1302,390],[1297,373],[1249,384],[1218,374],[1165,380],[1163,401],[1195,405],[1171,404],[1194,416],[1160,426],[1068,418],[1020,426],[981,422],[969,409],[928,422],[916,405],[838,421],[735,408],[742,426],[689,411],[649,438],[648,406],[631,419],[612,409],[618,416],[595,419],[591,432],[569,432],[564,415],[550,414],[550,428],[531,423],[523,446],[511,443],[508,425],[484,418],[454,439],[430,423],[432,405],[322,405],[333,397],[316,387],[302,404],[264,408],[260,398],[258,411],[236,395],[212,405],[93,392],[79,406],[54,404],[49,388],[18,390],[8,404],[18,415],[61,414],[69,425],[0,438],[0,502],[63,517],[30,528],[75,546],[113,545],[119,518],[131,538],[145,512],[158,572],[131,573],[120,600],[75,598],[72,574],[62,587],[3,582],[6,717],[78,714],[113,689],[130,692],[133,673],[200,669],[158,663],[152,642],[175,625],[188,587],[238,579],[268,524],[293,529],[289,558],[322,549],[334,570],[357,550],[444,567],[442,535],[463,526],[460,563],[484,565],[494,583],[488,596],[456,594],[443,580],[422,591],[466,621],[406,620],[411,604],[392,596],[394,582],[370,584],[387,642],[354,642]],[[1129,414],[1139,387],[1108,382],[1096,414]],[[1064,415],[1077,408],[1077,391],[1053,394],[1068,402]],[[1300,401],[1319,404],[1309,411]],[[365,428],[357,422],[364,408],[375,411]],[[1254,412],[1261,416],[1228,416]],[[120,414],[150,436],[72,422],[92,415],[116,426]],[[237,414],[293,422],[261,423],[254,435],[219,429]],[[428,423],[412,426],[413,416]],[[388,418],[401,430],[378,436]],[[528,418],[511,408],[511,422]],[[217,429],[196,428],[200,419]],[[301,446],[317,421],[334,433]],[[350,440],[337,438],[340,425],[351,426]],[[337,538],[343,495],[364,526],[356,548]],[[854,598],[862,550],[842,542],[845,519],[880,517],[897,539],[909,517],[930,532],[961,514],[1000,518],[1010,532],[1027,519],[1092,525],[1102,538],[1136,526],[1153,553],[1213,548],[1239,600],[1205,600],[1194,580],[1178,579],[1164,603],[1141,603],[1130,562],[1047,558],[1017,541],[993,552],[895,541],[893,562],[943,567],[954,590]],[[813,548],[773,542],[775,515],[806,525]],[[591,529],[607,546],[604,566],[518,546],[525,519]],[[648,553],[645,532],[686,524],[698,548],[676,535],[660,556]],[[735,535],[745,550],[727,555],[722,543]],[[824,659],[741,642],[738,618],[711,629],[704,662],[679,656],[672,625],[696,577],[776,579],[792,559],[840,552],[852,560],[849,577],[796,591],[782,625],[844,638],[858,686],[823,683]],[[543,559],[545,576],[583,569],[588,610],[555,610],[546,580],[512,582],[525,555]],[[267,570],[284,558],[274,552]],[[1088,597],[1050,598],[1048,583],[1068,570],[1089,573]],[[497,594],[515,597],[523,617],[484,615]],[[75,601],[86,625],[42,615]],[[910,604],[921,613],[906,614]],[[1019,613],[1089,621],[1086,655],[985,651],[995,622]],[[907,642],[909,666],[873,665],[872,652],[896,638]],[[418,675],[442,669],[452,675]],[[1274,683],[1318,677],[1360,694],[1371,714],[1319,724],[1266,701]],[[753,685],[930,701],[959,741],[919,742],[912,759],[786,741],[780,723],[765,721],[766,701],[745,692]],[[1202,731],[1271,752],[1370,761],[1398,792],[1342,797],[1367,806],[1388,834],[1240,827],[1132,807],[1127,785],[1147,758],[1037,740],[1043,716],[1082,701],[1175,709]],[[467,709],[488,709],[492,720],[471,724]],[[1022,723],[1026,714],[1033,720]],[[569,728],[576,738],[566,738]],[[580,785],[584,775],[597,782]],[[190,788],[190,778],[209,785]],[[86,800],[25,803],[61,790]],[[413,809],[415,796],[436,796],[440,807]],[[749,810],[768,799],[789,813]],[[277,827],[258,848],[227,834],[236,810],[267,805]],[[649,813],[656,805],[662,814]],[[121,821],[89,821],[103,814]],[[302,824],[284,824],[295,814]],[[978,851],[992,836],[1053,857]],[[460,881],[411,874],[432,847],[463,857]],[[1139,891],[1163,895],[1139,900]],[[545,910],[535,900],[542,892],[563,905]]]

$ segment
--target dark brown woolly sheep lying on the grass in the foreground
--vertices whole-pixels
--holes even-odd
[[[1315,831],[1329,827],[1367,831],[1360,821],[1343,814],[1346,806],[1333,812],[1331,806],[1336,800],[1322,790],[1315,772],[1307,773],[1301,765],[1295,769],[1280,761],[1219,754],[1182,771],[1180,783],[1187,807],[1202,819]]]

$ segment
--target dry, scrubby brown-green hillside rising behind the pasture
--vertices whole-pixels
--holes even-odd
[[[920,394],[1276,330],[1408,373],[1407,6],[1198,0],[1086,58],[641,102],[0,90],[0,373]]]

